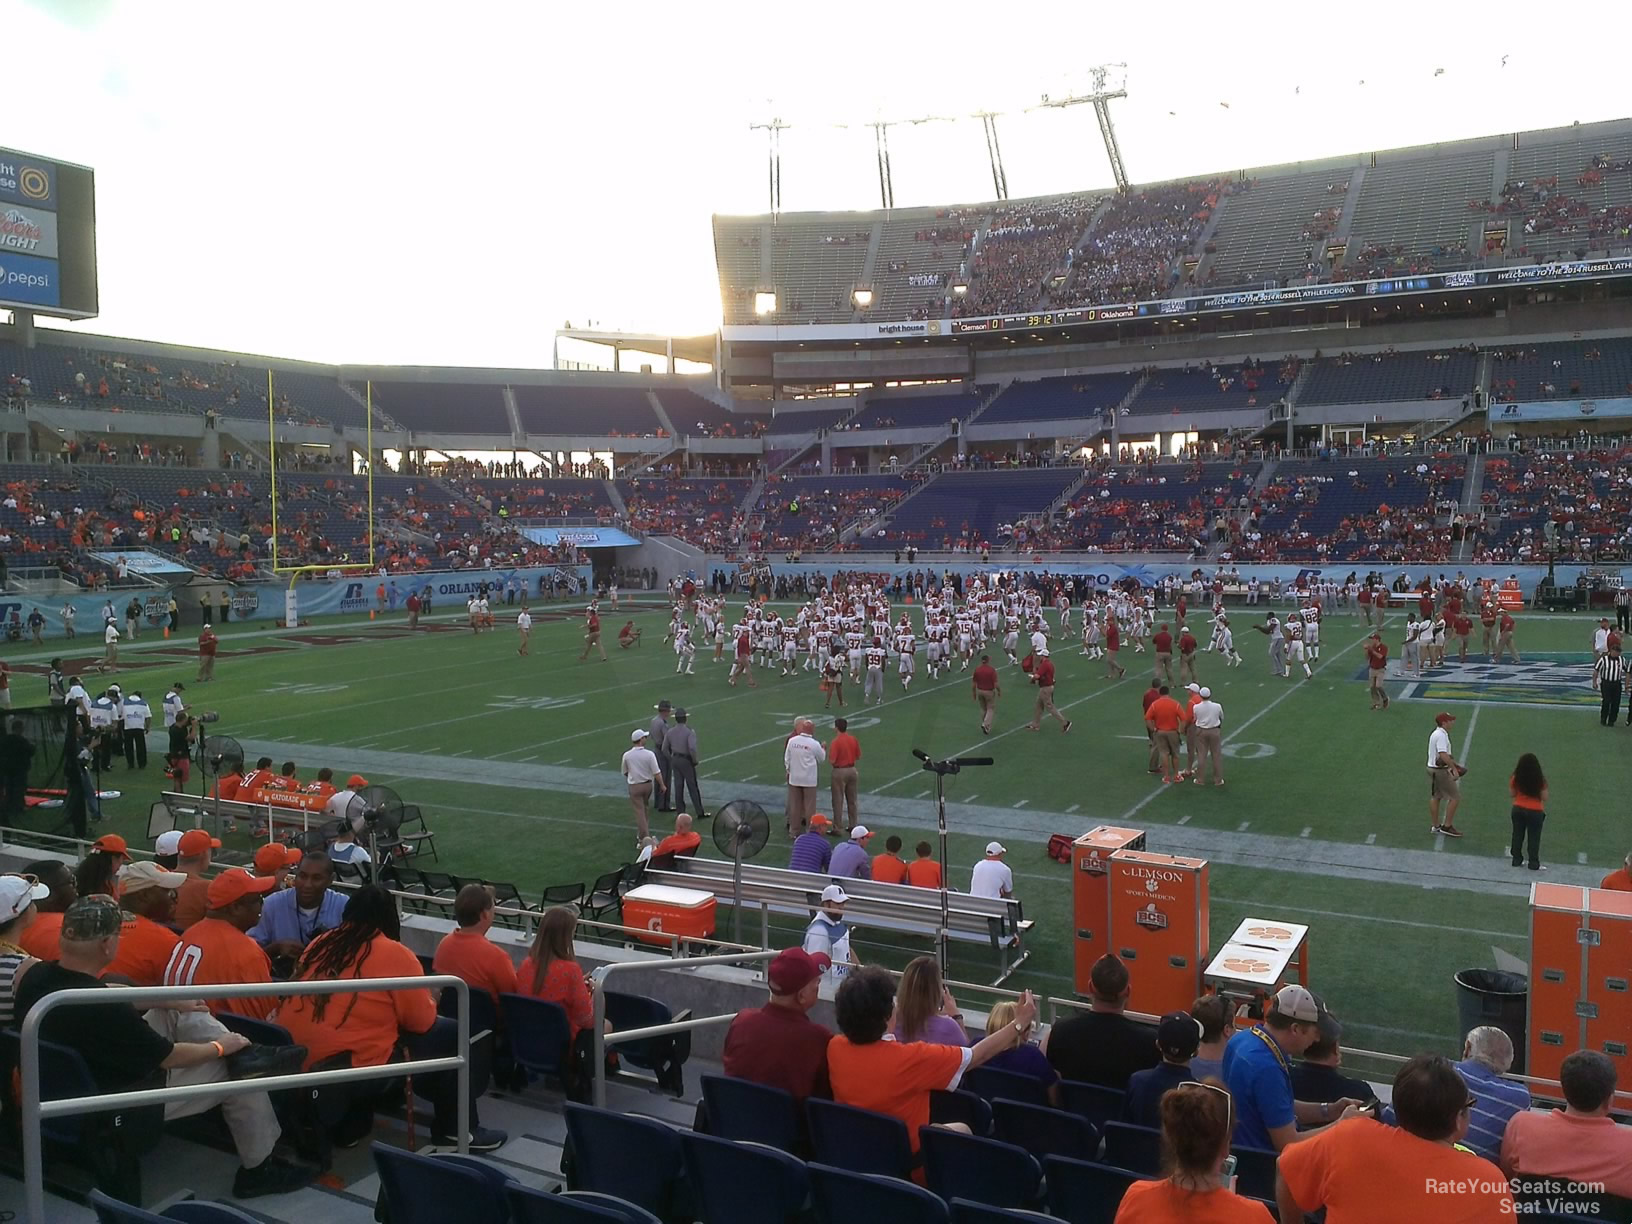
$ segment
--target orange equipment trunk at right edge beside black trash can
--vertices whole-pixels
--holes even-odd
[[[1632,1084],[1632,893],[1531,885],[1528,1074],[1559,1079],[1567,1054],[1596,1049]],[[1632,1092],[1616,1093],[1632,1108]]]

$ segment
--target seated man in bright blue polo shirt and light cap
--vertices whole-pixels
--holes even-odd
[[[1224,1082],[1235,1100],[1235,1146],[1279,1152],[1327,1123],[1353,1116],[1361,1102],[1328,1105],[1293,1098],[1293,1059],[1320,1036],[1320,1005],[1302,986],[1283,986],[1263,1013],[1224,1046]],[[1306,1128],[1299,1131],[1302,1123]]]

